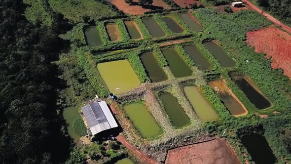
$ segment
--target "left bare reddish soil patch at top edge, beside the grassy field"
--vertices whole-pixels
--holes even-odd
[[[125,0],[110,0],[110,2],[126,14],[142,15],[145,12],[150,11],[150,9],[143,8],[139,5],[129,5]]]

